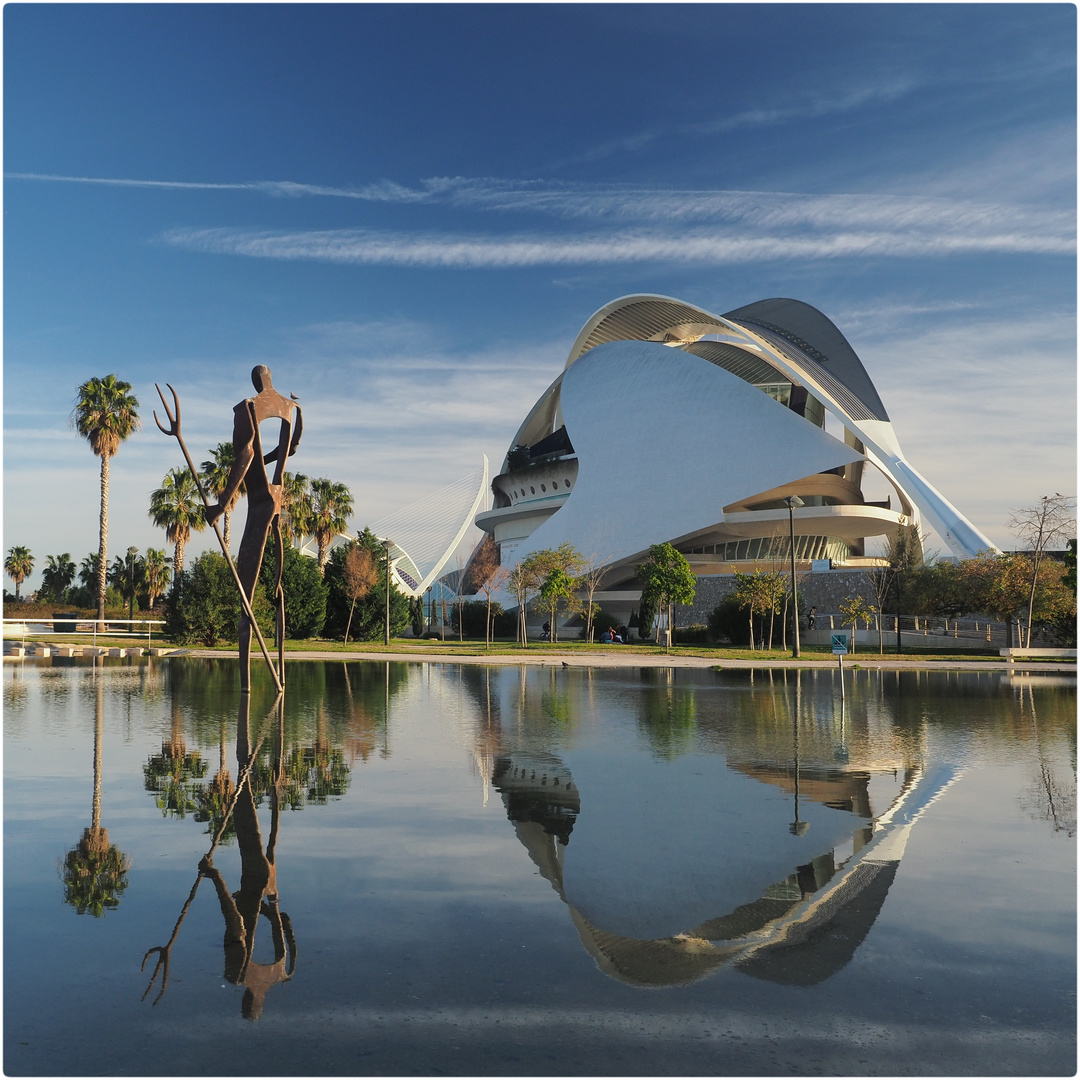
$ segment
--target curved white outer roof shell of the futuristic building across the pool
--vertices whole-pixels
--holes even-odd
[[[859,445],[825,435],[755,389],[773,377],[812,394]],[[843,335],[798,300],[761,300],[725,315],[666,296],[612,300],[581,328],[564,372],[529,411],[512,448],[564,424],[578,458],[573,489],[518,546],[515,561],[563,540],[586,553],[608,552],[610,562],[629,558],[650,543],[706,528],[740,498],[864,457],[901,498],[903,513],[891,515],[890,530],[897,521],[917,524],[921,512],[955,554],[994,550],[905,459]],[[627,453],[630,432],[634,449]],[[723,465],[711,460],[711,446],[723,454]],[[503,473],[509,462],[508,454]],[[796,511],[800,534],[813,530],[814,513],[813,507]],[[843,515],[831,516],[835,524]],[[864,535],[875,531],[887,529]]]

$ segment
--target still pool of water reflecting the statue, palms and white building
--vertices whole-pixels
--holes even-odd
[[[1074,1072],[1075,678],[846,678],[5,663],[4,1070]]]

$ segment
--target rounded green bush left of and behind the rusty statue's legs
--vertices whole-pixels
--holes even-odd
[[[165,605],[165,634],[178,645],[199,644],[213,648],[237,640],[240,622],[240,590],[224,555],[203,552],[185,575],[184,589],[174,589]],[[252,610],[264,636],[273,634],[274,611],[259,582]]]

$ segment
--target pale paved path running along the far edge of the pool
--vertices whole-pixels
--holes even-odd
[[[434,648],[434,647],[433,647]],[[187,657],[237,657],[235,652],[228,652],[221,649],[179,649],[173,656]],[[254,663],[256,657],[252,657]],[[478,656],[475,653],[436,652],[428,651],[424,648],[405,649],[401,652],[341,652],[341,651],[320,651],[318,649],[291,651],[285,654],[285,662],[289,660],[380,660],[397,661],[403,663],[429,663],[429,664],[495,664],[513,665],[525,664],[535,667],[808,667],[823,669],[836,667],[837,662],[833,658],[810,659],[804,657],[799,660],[728,660],[716,657],[693,657],[674,652],[670,656],[665,653],[643,654],[635,652],[529,652],[524,656],[501,652],[489,656]],[[260,659],[261,662],[261,659]],[[854,657],[845,659],[845,666],[851,667],[858,664],[861,669],[890,670],[890,671],[1000,671],[1000,672],[1064,672],[1076,675],[1077,665],[1075,663],[1037,663],[1031,661],[1017,660],[1009,662],[1002,660],[896,660],[888,656],[880,657],[877,653],[858,653]]]

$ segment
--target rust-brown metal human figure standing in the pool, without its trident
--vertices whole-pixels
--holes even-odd
[[[244,524],[244,535],[240,540],[240,554],[237,557],[237,575],[241,586],[252,600],[255,584],[259,580],[262,567],[262,555],[267,540],[273,530],[278,548],[278,577],[274,589],[274,599],[278,609],[276,644],[278,671],[284,683],[284,650],[285,650],[285,596],[282,592],[281,577],[284,566],[284,552],[281,536],[281,500],[285,461],[296,453],[300,442],[303,420],[300,406],[295,401],[282,396],[273,388],[270,379],[270,368],[259,364],[252,369],[252,383],[257,393],[240,402],[232,410],[232,447],[235,454],[232,469],[229,470],[229,482],[225,486],[216,505],[206,510],[206,522],[213,525],[225,513],[225,508],[240,490],[240,485],[247,485],[247,521]],[[262,453],[262,438],[259,424],[264,420],[281,420],[278,445],[268,454]],[[266,467],[276,462],[271,480]],[[240,642],[240,689],[251,690],[251,651],[252,624],[246,613],[241,615],[238,627]]]

